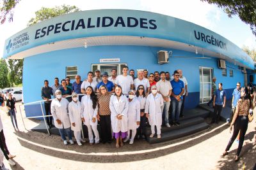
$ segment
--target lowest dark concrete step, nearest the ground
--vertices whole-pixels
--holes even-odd
[[[207,129],[209,127],[209,124],[202,122],[200,124],[191,125],[189,127],[185,127],[182,129],[177,129],[169,132],[163,132],[161,133],[161,138],[157,139],[157,136],[155,135],[154,138],[147,138],[148,143],[161,143],[163,141],[170,141],[173,139],[181,138],[184,136],[188,136],[190,134],[194,134],[196,132],[202,131],[204,129]]]

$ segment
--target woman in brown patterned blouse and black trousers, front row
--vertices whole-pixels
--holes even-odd
[[[100,124],[100,138],[102,143],[112,143],[111,136],[111,111],[109,109],[109,102],[111,94],[109,94],[106,85],[99,87],[98,97],[98,115],[97,119]]]

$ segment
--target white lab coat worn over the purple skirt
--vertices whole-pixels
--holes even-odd
[[[110,97],[109,108],[111,111],[111,125],[112,130],[115,133],[127,132],[127,111],[128,111],[128,99],[126,96],[120,96],[118,101],[117,96],[112,95]],[[117,115],[123,115],[121,120],[117,119]]]

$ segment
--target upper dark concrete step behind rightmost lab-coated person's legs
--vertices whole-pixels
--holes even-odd
[[[166,127],[165,125],[162,126],[161,128],[161,132],[170,132],[170,131],[174,131],[177,129],[182,129],[185,127],[189,127],[191,125],[196,125],[196,124],[200,124],[204,122],[204,118],[202,117],[195,117],[195,118],[189,118],[189,119],[184,119],[181,120],[180,119],[180,125],[173,125],[171,127]],[[151,134],[151,129],[150,126],[147,126],[146,128],[146,136],[149,136]]]

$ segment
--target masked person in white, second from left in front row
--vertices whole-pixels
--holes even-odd
[[[81,102],[78,101],[78,96],[75,92],[72,93],[72,102],[68,104],[68,114],[71,122],[71,130],[74,131],[77,145],[81,146],[81,129],[82,129],[82,112]]]

